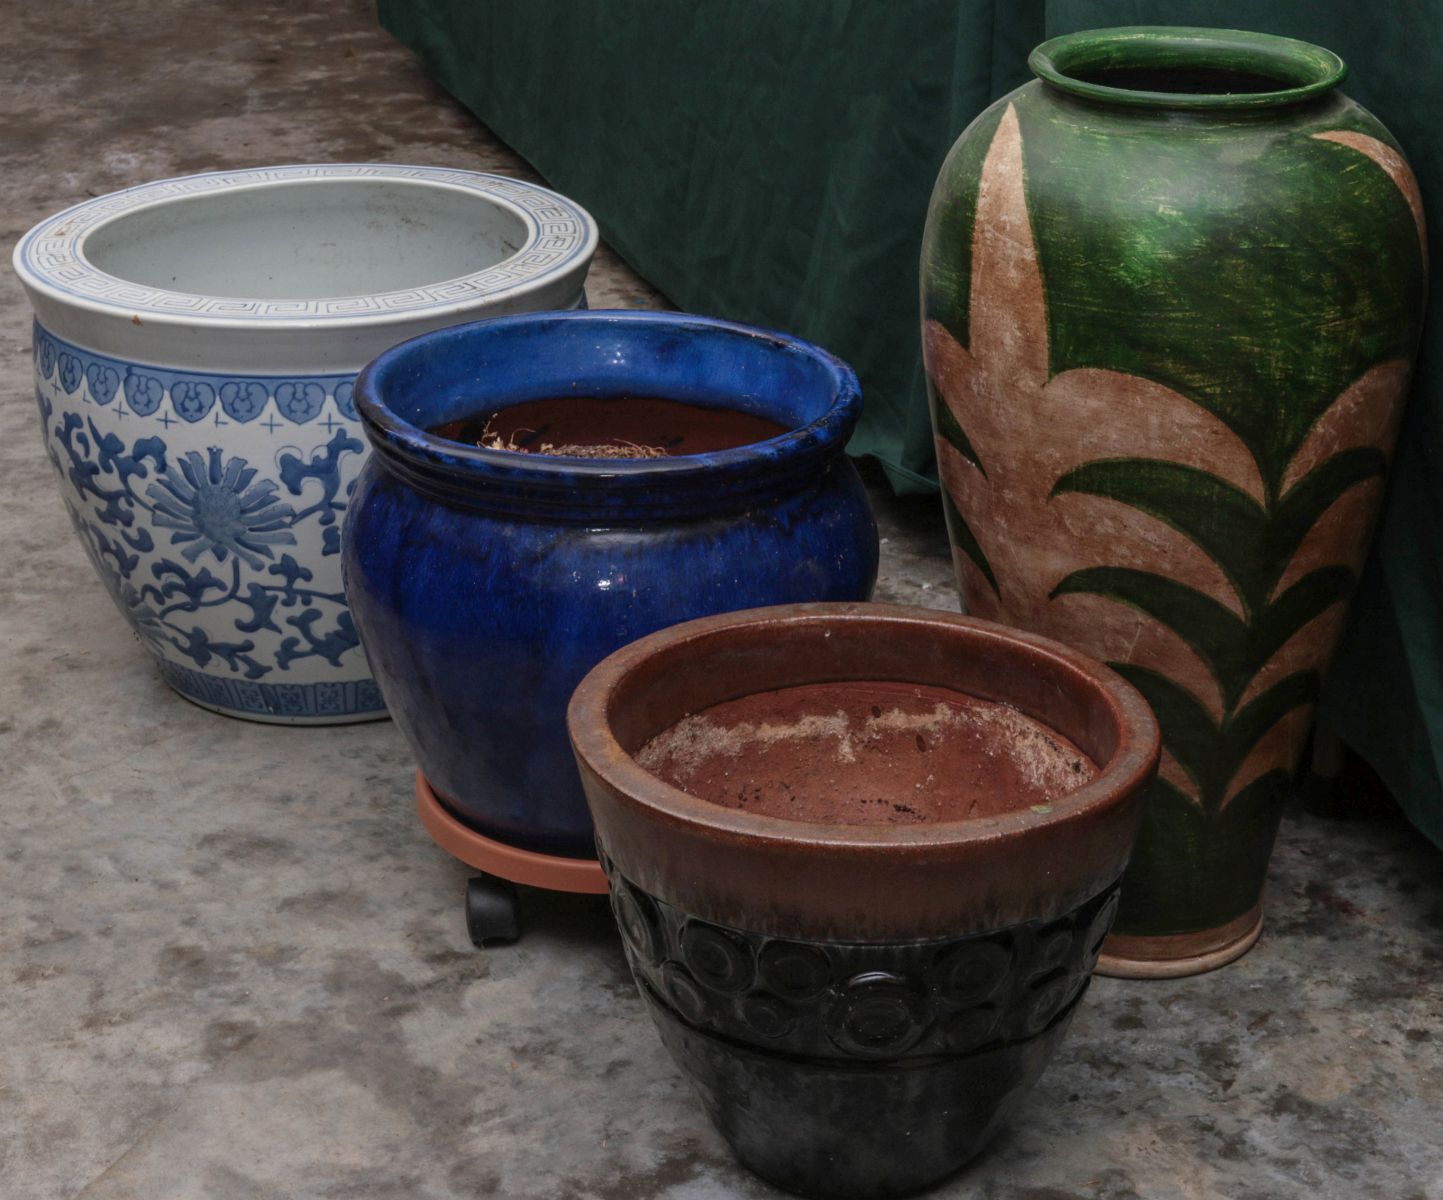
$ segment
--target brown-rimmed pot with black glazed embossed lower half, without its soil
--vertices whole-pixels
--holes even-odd
[[[1009,705],[1095,776],[1020,811],[863,825],[854,796],[840,821],[794,821],[636,760],[691,714],[824,681]],[[1159,753],[1141,695],[971,617],[795,604],[618,650],[569,724],[642,998],[737,1157],[811,1196],[905,1194],[970,1160],[1062,1040],[1111,925]]]

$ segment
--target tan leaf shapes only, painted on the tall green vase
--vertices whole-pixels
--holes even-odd
[[[1417,186],[1401,156],[1375,138],[1317,134],[1367,154],[1408,198],[1423,237]],[[962,550],[954,560],[968,612],[1035,629],[1104,659],[1159,672],[1189,692],[1224,736],[1242,704],[1287,675],[1320,665],[1342,620],[1330,604],[1304,622],[1225,704],[1208,662],[1163,620],[1107,594],[1058,584],[1085,568],[1130,568],[1185,584],[1248,619],[1241,597],[1196,542],[1131,505],[1082,492],[1053,495],[1068,472],[1098,460],[1153,459],[1208,472],[1270,509],[1257,460],[1218,417],[1188,397],[1140,376],[1100,368],[1049,378],[1046,293],[1026,202],[1017,112],[1007,105],[983,162],[973,237],[970,346],[935,320],[924,325],[924,358],[938,402],[957,421],[977,462],[945,437],[937,453],[942,485],[977,539],[996,588]],[[1284,495],[1333,454],[1359,446],[1391,450],[1403,361],[1365,372],[1326,410],[1283,479]],[[1355,485],[1303,538],[1274,597],[1320,567],[1359,565],[1377,480]],[[1163,614],[1166,617],[1166,614]],[[1284,766],[1291,769],[1309,707],[1284,714],[1232,773],[1225,799]],[[1166,738],[1166,728],[1165,728]],[[1240,749],[1237,753],[1242,754]],[[1291,756],[1291,757],[1290,757]],[[1162,777],[1195,800],[1201,789],[1172,751]]]

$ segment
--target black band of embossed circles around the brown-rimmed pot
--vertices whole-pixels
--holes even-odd
[[[1075,1004],[1115,890],[1062,920],[951,942],[799,942],[703,922],[602,855],[641,985],[691,1025],[805,1059],[973,1054],[1032,1038]]]

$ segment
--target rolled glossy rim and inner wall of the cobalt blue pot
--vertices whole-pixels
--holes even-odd
[[[667,459],[489,450],[429,430],[531,400],[644,395],[732,408],[776,437]],[[861,415],[856,372],[811,342],[668,312],[541,312],[423,333],[359,375],[356,411],[384,466],[447,503],[554,518],[749,508],[815,480]]]

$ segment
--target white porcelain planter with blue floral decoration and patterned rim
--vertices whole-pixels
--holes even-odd
[[[258,721],[385,715],[341,586],[355,375],[442,326],[582,306],[595,250],[544,188],[351,164],[149,183],[20,239],[46,450],[176,691]]]

